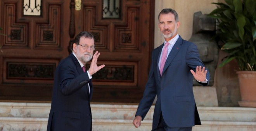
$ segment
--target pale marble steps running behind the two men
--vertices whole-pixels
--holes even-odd
[[[150,131],[154,106],[142,126],[132,124],[137,105],[91,104],[93,131]],[[46,131],[50,103],[0,102],[1,131]],[[254,131],[256,108],[198,107],[202,125],[193,131]]]

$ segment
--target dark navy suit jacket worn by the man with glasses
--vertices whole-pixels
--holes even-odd
[[[90,94],[88,93],[90,84]],[[47,131],[90,131],[93,85],[73,54],[62,60],[54,74]]]

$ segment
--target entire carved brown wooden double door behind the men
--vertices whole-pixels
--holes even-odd
[[[50,101],[55,67],[69,55],[69,42],[86,30],[95,37],[98,63],[94,102],[139,102],[153,48],[154,0],[41,0],[39,16],[23,15],[23,0],[0,0],[0,99]],[[110,8],[114,1],[115,17]],[[79,7],[79,3],[76,5]],[[86,65],[90,66],[90,62]]]

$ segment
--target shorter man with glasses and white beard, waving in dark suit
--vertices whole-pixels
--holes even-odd
[[[74,39],[73,53],[62,60],[54,74],[52,106],[47,131],[91,131],[92,75],[105,65],[97,66],[98,51],[93,55],[94,39],[80,32]],[[90,61],[85,71],[85,63]]]

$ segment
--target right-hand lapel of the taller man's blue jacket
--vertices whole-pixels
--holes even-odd
[[[164,64],[163,74],[164,74],[164,71],[167,69],[167,67],[171,64],[171,61],[173,61],[173,59],[175,58],[178,51],[180,50],[181,44],[182,44],[182,38],[179,37],[178,40],[173,45],[173,48],[171,49],[171,52],[166,59],[166,62]]]

